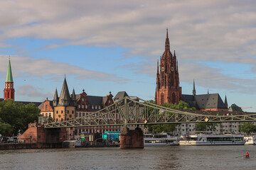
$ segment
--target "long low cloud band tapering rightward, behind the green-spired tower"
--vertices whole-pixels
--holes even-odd
[[[7,56],[0,55],[0,72],[5,74],[7,70]],[[53,60],[40,59],[33,60],[32,57],[11,57],[11,67],[14,77],[58,77],[64,74],[75,76],[76,79],[95,79],[97,81],[114,81],[124,84],[129,79],[118,77],[116,74],[91,71],[75,65],[63,62],[53,62]],[[17,73],[17,74],[16,74]],[[53,78],[50,78],[53,79]],[[57,78],[58,79],[58,78]],[[54,78],[54,81],[56,79]]]

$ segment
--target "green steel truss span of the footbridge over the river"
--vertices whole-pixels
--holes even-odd
[[[228,112],[227,112],[228,113]],[[254,122],[256,114],[202,115],[159,106],[141,98],[124,97],[106,108],[80,118],[46,123],[45,128],[75,128],[105,125],[150,125],[166,123]]]

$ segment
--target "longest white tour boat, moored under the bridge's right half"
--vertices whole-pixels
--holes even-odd
[[[182,135],[179,145],[245,145],[243,135]]]

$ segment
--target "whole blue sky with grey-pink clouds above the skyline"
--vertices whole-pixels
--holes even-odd
[[[166,28],[182,94],[218,93],[256,112],[256,1],[0,0],[0,89],[11,58],[16,101],[127,91],[154,100]],[[0,98],[4,92],[0,93]],[[251,108],[250,108],[251,107]]]

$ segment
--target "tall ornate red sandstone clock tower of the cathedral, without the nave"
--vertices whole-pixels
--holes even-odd
[[[160,66],[160,69],[159,69]],[[181,101],[181,87],[179,86],[178,61],[176,54],[171,54],[168,29],[166,30],[166,42],[164,54],[157,61],[156,96],[157,104],[177,103]]]

